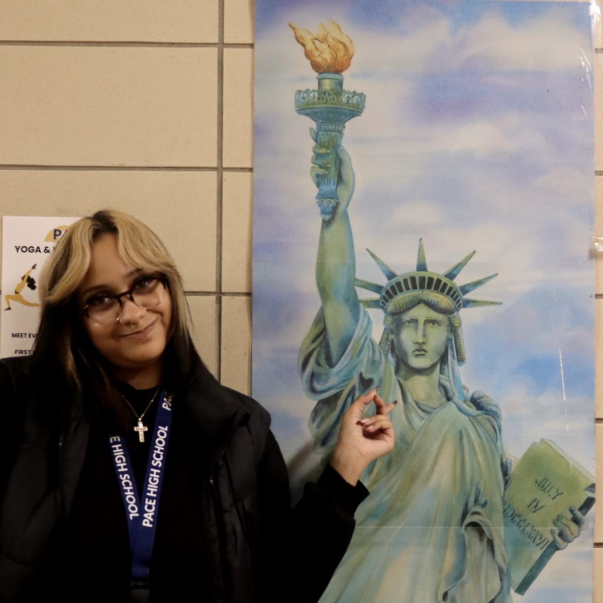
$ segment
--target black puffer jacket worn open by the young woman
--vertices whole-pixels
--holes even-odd
[[[4,415],[0,467],[0,601],[27,601],[48,543],[69,516],[83,466],[89,422],[79,402],[68,412],[34,406],[27,361],[0,361]],[[270,415],[218,384],[198,365],[180,397],[198,438],[211,450],[201,512],[216,602],[316,601],[352,537],[367,495],[327,466],[291,511],[288,475]]]

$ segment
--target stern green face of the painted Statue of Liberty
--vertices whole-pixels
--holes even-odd
[[[424,303],[394,317],[391,332],[400,362],[414,371],[428,370],[440,361],[449,335],[448,317]]]

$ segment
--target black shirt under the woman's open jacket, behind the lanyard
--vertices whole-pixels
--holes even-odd
[[[144,411],[156,390],[134,390],[127,384],[118,384],[118,389],[136,412]],[[158,405],[156,399],[143,419],[148,427],[143,443],[133,429],[137,425],[133,412],[132,429],[125,434],[139,492],[147,470]],[[195,452],[203,447],[195,446],[194,421],[187,416],[186,406],[179,406],[178,400],[174,399],[172,412],[151,557],[150,600],[178,600],[178,591],[190,593],[189,587],[194,584],[195,591],[204,601],[212,601],[210,566],[200,512],[201,480],[209,476],[203,476],[206,464]],[[51,572],[53,590],[69,601],[130,601],[128,526],[109,449],[107,424],[107,421],[92,422],[74,504],[58,543],[60,554],[56,558],[62,563]]]

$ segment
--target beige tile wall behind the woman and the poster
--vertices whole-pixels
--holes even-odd
[[[596,47],[600,141],[601,27]],[[116,207],[147,221],[182,268],[207,365],[250,391],[253,0],[2,0],[0,83],[1,213]],[[596,364],[599,375],[599,347]],[[601,387],[596,399],[603,423]],[[600,459],[601,424],[597,440]],[[595,539],[601,576],[602,525]]]

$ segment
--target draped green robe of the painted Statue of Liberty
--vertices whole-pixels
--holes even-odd
[[[412,400],[371,339],[364,309],[334,367],[318,312],[300,350],[300,373],[318,400],[310,428],[324,458],[356,397],[381,385],[386,402],[399,400],[391,413],[394,451],[362,476],[371,496],[321,603],[510,602],[496,421],[458,399],[435,409]]]

